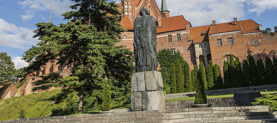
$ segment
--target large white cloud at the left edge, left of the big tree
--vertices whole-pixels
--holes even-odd
[[[29,49],[30,46],[38,42],[32,38],[33,30],[23,27],[17,27],[15,24],[6,22],[0,18],[0,45],[14,47],[18,49]]]

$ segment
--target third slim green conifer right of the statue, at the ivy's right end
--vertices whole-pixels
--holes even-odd
[[[190,66],[188,65],[187,61],[185,61],[185,92],[192,92],[192,84],[191,84],[191,73],[190,73]]]

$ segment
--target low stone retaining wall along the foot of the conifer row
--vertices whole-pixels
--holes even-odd
[[[260,85],[260,86],[249,86],[240,88],[229,88],[229,89],[216,89],[216,90],[206,90],[206,95],[219,95],[219,94],[230,94],[236,91],[246,91],[246,90],[275,90],[277,89],[277,84],[275,85]],[[195,92],[186,93],[172,93],[164,96],[165,99],[183,98],[183,97],[195,97]]]

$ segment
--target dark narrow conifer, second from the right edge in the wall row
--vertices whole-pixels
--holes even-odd
[[[271,59],[266,57],[266,63],[265,64],[266,64],[267,84],[268,85],[276,84]]]

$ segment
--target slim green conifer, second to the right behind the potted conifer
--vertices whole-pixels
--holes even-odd
[[[221,71],[217,64],[215,64],[214,66],[214,77],[215,77],[215,89],[223,89]]]

